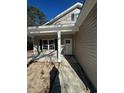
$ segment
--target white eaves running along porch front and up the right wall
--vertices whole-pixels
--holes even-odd
[[[86,19],[87,15],[90,13],[92,8],[96,5],[97,0],[86,0],[82,10],[80,12],[79,18],[75,24],[65,24],[65,25],[42,25],[42,26],[33,26],[28,27],[28,36],[41,35],[43,33],[56,33],[57,31],[62,32],[76,32],[79,31],[79,27]]]

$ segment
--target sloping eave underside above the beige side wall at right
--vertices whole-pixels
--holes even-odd
[[[94,7],[94,5],[97,3],[97,0],[86,0],[82,10],[80,12],[80,15],[75,23],[75,26],[79,27],[83,21],[85,20],[85,18],[87,17],[87,15],[90,13],[90,11],[92,10],[92,8]]]

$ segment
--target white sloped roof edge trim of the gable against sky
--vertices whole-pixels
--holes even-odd
[[[62,13],[60,13],[59,15],[57,15],[55,18],[51,19],[50,21],[48,21],[47,23],[45,23],[44,25],[49,25],[50,23],[58,20],[59,18],[61,18],[62,16],[64,16],[65,14],[71,12],[72,10],[78,8],[81,9],[82,8],[82,3],[77,2],[76,4],[74,4],[73,6],[71,6],[70,8],[66,9],[65,11],[63,11]]]

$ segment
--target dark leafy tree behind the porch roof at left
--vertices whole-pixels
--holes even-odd
[[[27,26],[39,26],[46,22],[46,16],[34,6],[27,7]]]

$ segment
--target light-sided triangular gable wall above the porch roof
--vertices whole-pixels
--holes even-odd
[[[71,11],[70,13],[64,15],[63,17],[61,17],[60,19],[58,19],[57,21],[55,21],[53,24],[72,24],[72,23],[75,23],[75,21],[72,21],[71,20],[71,14],[73,13],[79,13],[80,12],[80,9],[75,9],[73,11]]]

